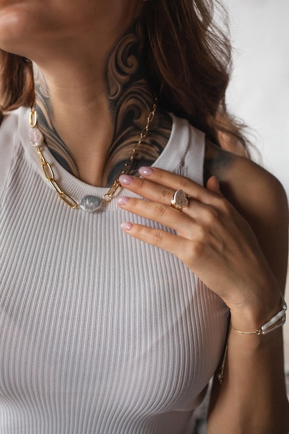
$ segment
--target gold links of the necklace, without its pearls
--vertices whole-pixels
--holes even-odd
[[[137,141],[137,144],[134,146],[134,149],[132,151],[132,155],[127,159],[125,162],[125,166],[121,173],[119,173],[119,176],[114,180],[114,183],[110,187],[109,191],[103,195],[103,202],[110,202],[116,193],[116,190],[119,189],[119,186],[121,186],[121,182],[119,181],[119,177],[121,175],[125,175],[130,171],[130,168],[132,168],[132,163],[134,162],[134,158],[137,155],[137,151],[139,150],[139,147],[141,146],[141,143],[143,139],[146,139],[146,135],[148,134],[148,128],[150,126],[150,123],[152,122],[152,119],[155,116],[155,111],[157,110],[157,98],[155,98],[155,102],[152,105],[152,110],[148,114],[148,117],[146,119],[146,126],[141,131],[141,134],[139,135],[139,140]],[[35,128],[37,126],[37,112],[36,110],[33,110],[33,107],[30,107],[30,117],[29,117],[29,125],[31,128]],[[46,161],[42,150],[40,149],[40,146],[36,147],[37,153],[40,157],[41,164],[42,164],[42,171],[46,177],[46,180],[53,186],[53,189],[55,189],[56,193],[58,193],[58,196],[60,199],[62,199],[69,207],[72,209],[78,208],[78,203],[71,198],[67,193],[65,193],[58,182],[55,180],[55,176],[51,167],[51,164]]]

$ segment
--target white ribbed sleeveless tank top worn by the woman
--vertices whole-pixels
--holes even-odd
[[[189,433],[220,360],[225,305],[120,227],[157,223],[116,200],[69,209],[44,179],[28,116],[21,108],[0,128],[0,433]],[[76,200],[107,190],[44,154]],[[203,134],[173,116],[155,166],[202,183],[203,158]]]

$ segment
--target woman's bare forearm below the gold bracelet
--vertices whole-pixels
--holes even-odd
[[[284,384],[282,329],[265,336],[231,329],[223,383],[216,379],[213,385],[207,434],[288,434]]]

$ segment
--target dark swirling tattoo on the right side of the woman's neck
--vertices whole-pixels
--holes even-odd
[[[107,153],[105,179],[111,184],[122,170],[139,139],[152,109],[154,94],[146,80],[143,60],[143,28],[138,21],[116,45],[107,62],[107,98],[114,116],[114,137]],[[146,139],[134,160],[131,173],[151,165],[166,146],[171,130],[168,114],[157,110]]]

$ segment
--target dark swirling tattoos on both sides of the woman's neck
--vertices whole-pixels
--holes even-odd
[[[110,113],[114,121],[112,144],[107,151],[103,182],[110,185],[132,155],[139,134],[146,125],[154,95],[146,80],[143,61],[143,30],[139,21],[116,44],[107,59],[105,85]],[[39,69],[35,69],[37,112],[47,146],[67,171],[78,176],[78,167],[69,147],[64,144],[53,125],[53,107],[49,101],[49,88]],[[170,137],[170,116],[157,110],[134,160],[132,172],[141,165],[150,165],[159,156]]]

